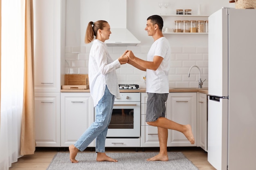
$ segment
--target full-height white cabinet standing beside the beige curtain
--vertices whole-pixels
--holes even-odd
[[[59,147],[60,91],[61,81],[64,82],[61,74],[65,72],[65,0],[34,0],[33,5],[36,146]]]

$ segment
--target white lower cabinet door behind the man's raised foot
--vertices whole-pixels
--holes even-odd
[[[197,93],[169,93],[167,100],[167,118],[178,124],[190,124],[195,138],[195,144],[176,130],[171,130],[170,146],[196,146],[197,139]]]

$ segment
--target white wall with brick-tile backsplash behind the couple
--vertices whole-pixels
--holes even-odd
[[[85,33],[83,29],[86,28],[89,21],[108,21],[109,13],[102,10],[98,11],[97,9],[115,4],[108,4],[110,0],[81,0],[81,3],[79,2],[80,0],[66,1],[66,74],[88,74],[90,44],[83,43]],[[158,7],[159,2],[167,2],[169,4],[167,9],[164,7],[160,9]],[[197,14],[199,4],[202,15],[211,15],[221,7],[234,7],[234,3],[229,4],[228,0],[127,0],[126,26],[141,41],[141,44],[128,47],[108,47],[110,55],[113,59],[117,59],[126,49],[129,49],[137,57],[146,60],[148,49],[153,43],[153,38],[148,36],[144,30],[148,16],[159,15],[160,12],[175,14],[176,9],[192,9],[192,14]],[[113,13],[113,11],[111,12]],[[80,13],[83,17],[79,15]],[[173,18],[164,17],[163,19],[164,28],[166,26],[172,27]],[[109,20],[115,22],[112,19]],[[196,68],[193,68],[191,76],[187,77],[189,68],[192,65],[200,67],[202,80],[208,79],[207,34],[171,34],[165,35],[165,37],[169,40],[172,49],[171,69],[169,72],[170,87],[198,87],[199,71]],[[140,88],[146,87],[143,79],[145,73],[129,64],[121,65],[121,68],[117,70],[117,75],[119,84],[139,84]],[[208,80],[204,82],[203,87],[208,87]]]

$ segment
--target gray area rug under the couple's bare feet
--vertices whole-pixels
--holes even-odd
[[[97,153],[78,152],[71,163],[69,153],[58,152],[46,170],[198,170],[182,152],[168,152],[169,161],[146,161],[158,152],[106,153],[118,162],[97,162]]]

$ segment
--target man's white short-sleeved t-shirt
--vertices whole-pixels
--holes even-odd
[[[169,93],[168,72],[170,69],[171,47],[165,37],[161,37],[151,45],[147,61],[153,61],[154,56],[163,57],[163,61],[156,71],[146,70],[147,93]]]

